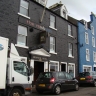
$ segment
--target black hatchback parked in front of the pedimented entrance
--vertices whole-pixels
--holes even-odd
[[[67,72],[43,72],[40,73],[36,81],[36,90],[38,93],[50,91],[60,94],[63,90],[79,90],[78,81]]]

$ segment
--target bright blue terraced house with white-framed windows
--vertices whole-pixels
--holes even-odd
[[[79,72],[96,71],[96,16],[78,22]]]

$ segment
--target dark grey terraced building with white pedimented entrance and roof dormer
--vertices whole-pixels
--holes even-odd
[[[9,38],[22,60],[33,66],[33,81],[48,71],[66,71],[75,77],[77,26],[68,20],[61,2],[49,9],[45,5],[46,0],[0,0],[0,36]]]

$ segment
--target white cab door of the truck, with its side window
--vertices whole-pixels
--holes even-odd
[[[28,68],[24,62],[19,60],[11,61],[11,84],[28,85]],[[26,86],[27,87],[27,86]]]

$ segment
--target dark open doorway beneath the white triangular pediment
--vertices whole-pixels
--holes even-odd
[[[34,81],[36,81],[41,72],[44,72],[44,62],[34,61]]]

